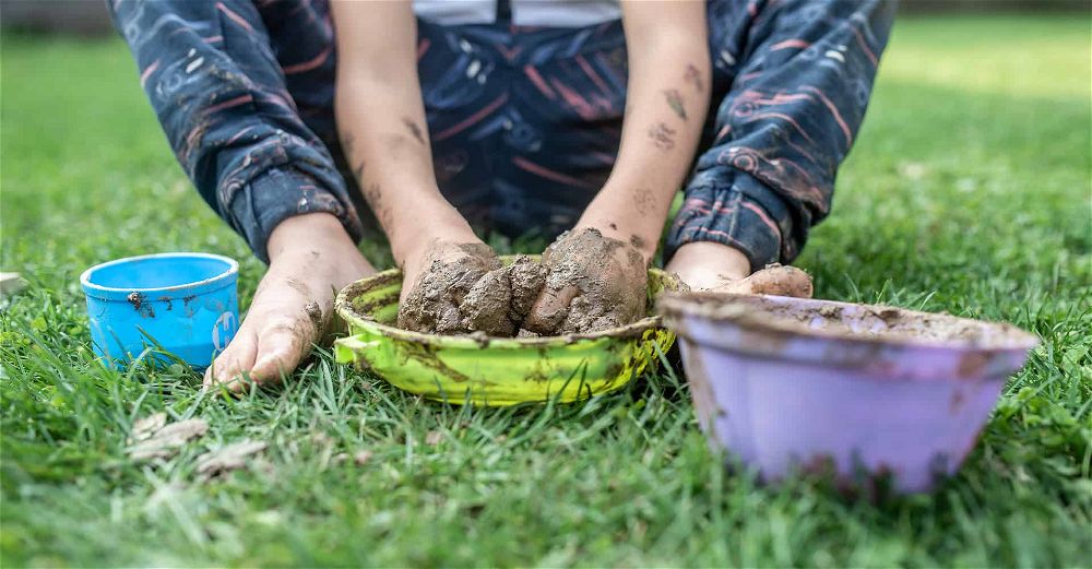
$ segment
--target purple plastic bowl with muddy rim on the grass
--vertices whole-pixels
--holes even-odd
[[[829,300],[678,294],[658,310],[711,446],[768,482],[821,467],[929,490],[1037,344],[1009,324]]]

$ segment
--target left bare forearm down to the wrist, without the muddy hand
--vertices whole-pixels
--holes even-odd
[[[435,230],[473,236],[437,187],[410,7],[335,2],[333,14],[343,54],[335,94],[342,146],[395,260],[403,264]],[[378,42],[377,25],[388,28]]]

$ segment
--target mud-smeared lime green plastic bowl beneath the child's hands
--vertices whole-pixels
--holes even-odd
[[[650,270],[650,309],[656,295],[680,286],[674,275]],[[334,306],[348,335],[334,342],[334,355],[339,363],[370,369],[395,387],[436,401],[503,406],[586,399],[654,369],[656,346],[666,353],[675,342],[675,334],[651,312],[626,327],[556,337],[410,332],[394,325],[401,291],[397,269],[342,289]]]

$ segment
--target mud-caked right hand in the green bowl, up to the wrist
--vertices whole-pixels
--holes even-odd
[[[543,253],[546,285],[523,328],[542,335],[585,333],[645,312],[648,268],[631,245],[598,229],[562,234]]]

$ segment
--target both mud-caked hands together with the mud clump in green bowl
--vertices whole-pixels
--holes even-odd
[[[636,322],[646,311],[648,271],[639,251],[595,229],[561,235],[539,263],[503,266],[489,247],[429,262],[399,310],[399,327],[424,333],[537,337]]]

